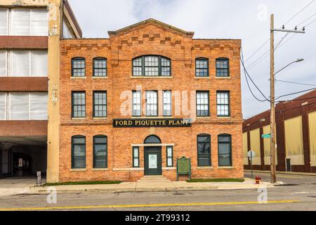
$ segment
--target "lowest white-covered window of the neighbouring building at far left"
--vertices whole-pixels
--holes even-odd
[[[47,92],[1,92],[0,120],[47,120]]]

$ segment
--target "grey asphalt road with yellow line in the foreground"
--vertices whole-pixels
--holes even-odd
[[[257,173],[256,173],[257,174]],[[269,174],[259,174],[269,181]],[[247,172],[246,177],[250,174]],[[0,198],[0,210],[312,210],[316,211],[316,176],[279,174],[284,186],[268,188],[268,203],[258,203],[258,190],[185,191],[157,193],[67,193],[56,204],[47,195]]]

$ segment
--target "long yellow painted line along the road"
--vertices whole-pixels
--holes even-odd
[[[298,200],[275,200],[268,204],[298,203]],[[138,207],[185,207],[185,206],[212,206],[212,205],[256,205],[258,202],[232,202],[232,203],[171,203],[171,204],[143,204],[143,205],[78,205],[56,207],[25,207],[25,208],[0,208],[0,211],[36,211],[36,210],[91,210],[103,208],[138,208]]]

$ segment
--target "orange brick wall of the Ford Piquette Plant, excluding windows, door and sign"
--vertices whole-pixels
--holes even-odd
[[[144,147],[140,146],[140,168],[133,168],[132,144],[143,144],[156,135],[173,144],[173,165],[166,167],[166,146],[162,146],[162,174],[176,179],[176,158],[192,160],[192,178],[242,178],[242,102],[240,85],[240,40],[192,39],[184,32],[157,20],[146,20],[117,32],[110,39],[63,39],[60,59],[60,181],[136,181],[144,176]],[[159,55],[171,59],[171,77],[132,77],[132,59]],[[72,58],[86,59],[86,77],[72,77]],[[107,78],[96,79],[93,58],[107,58]],[[195,58],[209,58],[209,77],[195,77]],[[230,77],[216,77],[216,58],[229,58]],[[124,94],[141,87],[157,90],[159,117],[162,91],[171,90],[172,118],[192,118],[192,127],[114,128],[112,120],[122,115]],[[86,91],[86,117],[72,119],[72,91]],[[107,91],[107,118],[93,119],[93,91]],[[188,97],[185,101],[187,91]],[[194,95],[190,98],[190,93]],[[209,91],[210,116],[195,115],[195,91]],[[230,117],[217,117],[216,91],[230,91]],[[181,113],[176,115],[176,96],[182,96]],[[123,94],[123,95],[122,95]],[[192,106],[191,105],[192,101]],[[142,105],[145,105],[143,96]],[[188,105],[190,114],[183,113]],[[143,117],[142,117],[143,118]],[[147,118],[147,117],[144,117]],[[197,135],[211,135],[211,167],[197,167]],[[232,136],[232,167],[218,167],[218,135]],[[86,136],[86,169],[72,169],[72,136]],[[107,136],[107,169],[93,169],[93,136]]]

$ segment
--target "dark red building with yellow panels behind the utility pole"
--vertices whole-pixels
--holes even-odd
[[[316,172],[316,91],[277,103],[277,170]],[[248,150],[256,152],[253,168],[270,170],[270,110],[244,121],[244,167],[250,169]]]

